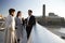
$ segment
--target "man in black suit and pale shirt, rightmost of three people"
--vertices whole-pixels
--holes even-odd
[[[26,31],[27,31],[27,40],[29,39],[32,26],[36,25],[36,18],[32,15],[32,11],[28,10],[28,17],[26,18]]]

